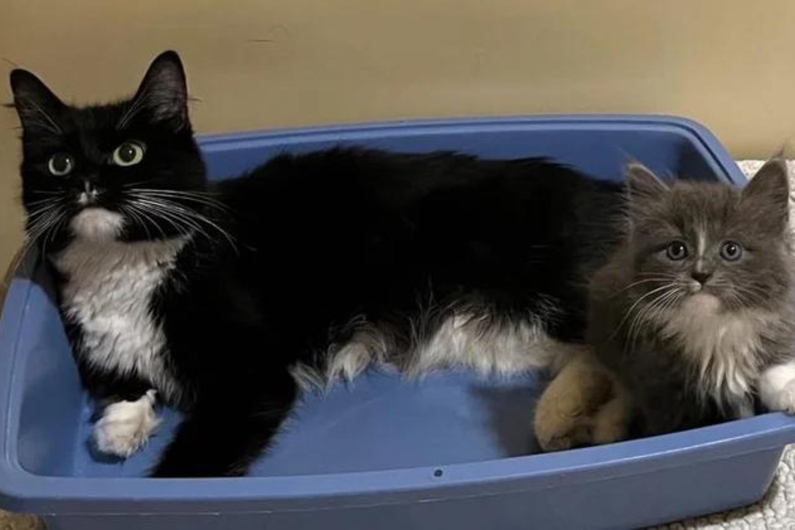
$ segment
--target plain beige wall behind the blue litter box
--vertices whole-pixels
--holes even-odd
[[[199,132],[674,113],[704,122],[736,156],[765,156],[795,131],[792,0],[2,3],[0,64],[36,71],[67,101],[126,94],[175,48],[200,98]],[[16,126],[0,109],[0,267],[21,240]]]

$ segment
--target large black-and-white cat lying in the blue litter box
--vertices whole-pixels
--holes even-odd
[[[95,443],[126,457],[157,400],[185,413],[155,476],[244,474],[300,385],[373,362],[510,374],[582,339],[615,185],[543,159],[363,148],[210,184],[173,52],[111,105],[64,105],[26,71],[11,85],[29,239],[60,278]]]

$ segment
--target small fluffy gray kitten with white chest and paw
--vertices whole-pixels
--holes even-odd
[[[626,237],[591,281],[588,340],[644,434],[795,413],[795,282],[781,159],[744,190],[627,171]]]

